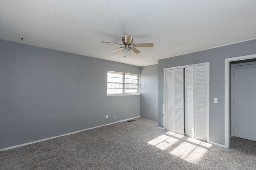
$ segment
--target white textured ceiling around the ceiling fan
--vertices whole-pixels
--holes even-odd
[[[154,47],[123,57],[100,43],[124,34]],[[256,0],[0,1],[2,40],[137,66],[254,38]]]

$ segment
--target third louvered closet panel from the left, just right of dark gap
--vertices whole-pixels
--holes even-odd
[[[194,138],[194,66],[185,68],[185,128]]]

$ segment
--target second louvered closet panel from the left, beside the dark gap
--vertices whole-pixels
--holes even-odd
[[[174,132],[184,135],[184,69],[174,69]]]

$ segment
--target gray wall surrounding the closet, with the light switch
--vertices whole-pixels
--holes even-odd
[[[210,62],[210,141],[225,145],[224,59],[256,53],[256,40],[208,49],[158,61],[158,126],[164,127],[164,68]],[[213,103],[218,98],[218,104]]]

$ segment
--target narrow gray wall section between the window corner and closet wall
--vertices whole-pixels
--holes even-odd
[[[140,117],[158,120],[158,64],[141,67]]]

